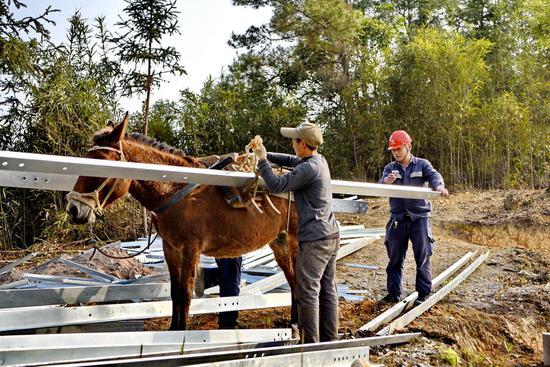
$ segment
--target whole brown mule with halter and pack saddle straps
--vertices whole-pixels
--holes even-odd
[[[107,128],[98,131],[94,135],[94,147],[85,157],[204,167],[196,158],[185,156],[181,151],[153,139],[135,133],[126,135],[127,125],[128,114],[117,126],[110,123]],[[128,192],[145,208],[154,211],[183,186],[185,184],[173,182],[81,176],[73,192],[67,195],[67,211],[75,223],[91,223],[95,220],[95,211]],[[272,208],[266,208],[263,214],[232,209],[219,188],[201,185],[161,215],[153,216],[155,228],[163,240],[164,256],[170,271],[170,329],[186,329],[195,270],[201,253],[218,258],[237,257],[269,243],[275,260],[288,280],[295,305],[296,212],[292,205],[288,236],[281,235],[287,227],[288,201],[279,197],[271,199],[280,214]],[[292,310],[291,322],[295,322],[295,307]]]

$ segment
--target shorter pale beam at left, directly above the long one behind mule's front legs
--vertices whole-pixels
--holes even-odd
[[[169,283],[0,290],[0,309],[170,298]]]

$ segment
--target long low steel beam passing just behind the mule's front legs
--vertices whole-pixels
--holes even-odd
[[[237,297],[196,298],[190,315],[290,306],[290,293],[248,294]],[[0,331],[141,320],[172,315],[172,301],[124,303],[83,307],[38,306],[0,309]]]

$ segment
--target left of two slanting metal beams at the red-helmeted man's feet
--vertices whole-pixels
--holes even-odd
[[[441,283],[443,283],[447,278],[454,274],[458,269],[460,269],[472,256],[474,252],[468,252],[466,255],[462,256],[457,262],[448,267],[443,273],[439,274],[432,281],[432,287],[437,288]],[[382,312],[380,315],[376,316],[374,319],[370,320],[365,325],[361,326],[358,330],[361,331],[374,331],[380,325],[389,322],[395,319],[397,316],[403,312],[408,305],[412,304],[418,298],[418,292],[413,292],[407,296],[401,302],[396,303],[392,307],[388,308],[386,311]]]

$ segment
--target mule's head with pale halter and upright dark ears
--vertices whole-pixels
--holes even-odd
[[[128,113],[121,123],[112,122],[94,135],[94,146],[85,158],[124,161],[122,141],[128,126]],[[67,194],[66,210],[74,223],[93,223],[96,212],[128,193],[131,180],[80,176],[73,191]]]

